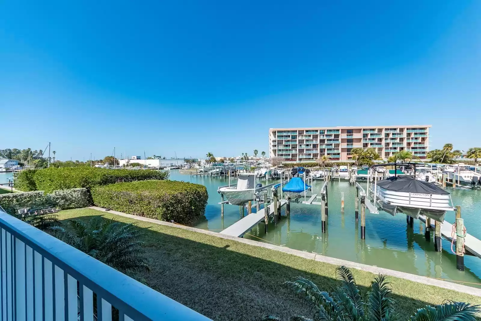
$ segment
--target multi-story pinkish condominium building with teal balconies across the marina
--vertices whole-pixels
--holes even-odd
[[[381,159],[407,150],[426,158],[431,125],[270,128],[269,156],[284,161],[313,161],[323,155],[330,160],[351,159],[353,148],[373,147]]]

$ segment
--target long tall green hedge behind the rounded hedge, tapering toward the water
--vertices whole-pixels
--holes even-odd
[[[45,191],[71,188],[91,188],[135,180],[165,180],[169,173],[152,169],[128,170],[95,167],[61,167],[20,171],[15,176],[15,188],[20,191]]]

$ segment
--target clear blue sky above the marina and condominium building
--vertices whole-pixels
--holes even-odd
[[[432,124],[481,146],[481,1],[2,1],[0,148],[266,151],[268,128]]]

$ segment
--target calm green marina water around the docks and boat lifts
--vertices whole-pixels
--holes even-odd
[[[184,180],[203,184],[207,187],[209,201],[205,216],[207,221],[196,227],[221,231],[241,218],[239,206],[225,205],[224,218],[220,216],[220,195],[217,187],[227,185],[226,179],[192,177],[172,170],[171,180]],[[318,193],[324,181],[314,181],[313,193]],[[287,218],[282,209],[282,219],[278,224],[272,220],[267,233],[264,224],[258,224],[245,238],[261,242],[272,242],[293,249],[315,252],[328,257],[336,257],[358,263],[374,265],[403,272],[443,278],[448,280],[481,283],[481,260],[465,256],[465,271],[456,270],[456,256],[451,252],[451,244],[443,240],[443,251],[434,251],[434,244],[424,238],[424,224],[414,221],[414,228],[406,224],[405,215],[370,214],[366,211],[366,239],[361,240],[360,223],[354,219],[355,188],[346,182],[328,185],[329,221],[328,232],[322,235],[320,206],[291,203],[291,217]],[[453,190],[455,205],[461,205],[462,217],[468,233],[481,238],[478,213],[481,210],[481,191]],[[341,214],[341,192],[344,192],[344,214]],[[454,222],[454,213],[446,215]],[[260,239],[259,239],[260,238]],[[262,240],[261,240],[262,239]],[[463,283],[481,287],[481,285]]]

